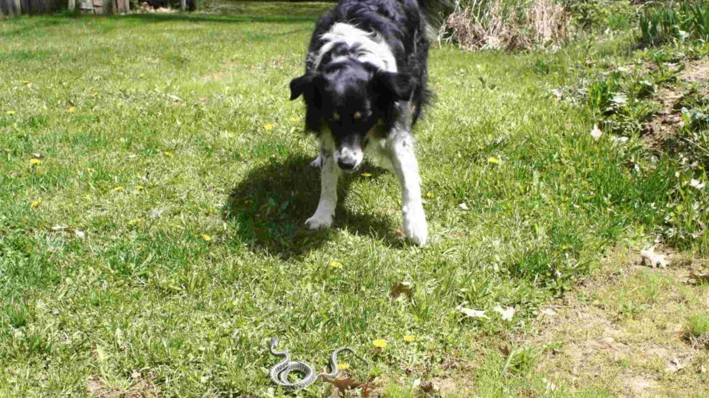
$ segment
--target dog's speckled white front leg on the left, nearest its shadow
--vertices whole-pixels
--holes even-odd
[[[320,152],[320,202],[313,217],[306,220],[311,229],[328,228],[333,224],[335,207],[337,207],[337,177],[340,169],[335,164],[333,152]]]

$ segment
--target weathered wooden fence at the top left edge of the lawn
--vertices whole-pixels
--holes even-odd
[[[66,9],[110,14],[130,11],[128,0],[0,0],[0,16],[53,13]]]

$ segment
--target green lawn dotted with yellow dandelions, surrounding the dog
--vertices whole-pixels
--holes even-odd
[[[82,396],[96,380],[104,392],[149,380],[166,397],[280,394],[272,335],[318,369],[353,346],[371,364],[357,377],[387,396],[461,369],[481,396],[547,392],[541,354],[498,343],[606,249],[657,232],[680,170],[638,137],[594,140],[593,110],[549,94],[578,77],[564,65],[623,59],[632,43],[433,50],[437,100],[416,133],[432,243],[419,249],[398,231],[396,179],[373,165],[343,181],[334,229],[303,226],[316,147],[287,85],[328,6],[0,25],[1,396]],[[411,294],[390,297],[405,280]]]

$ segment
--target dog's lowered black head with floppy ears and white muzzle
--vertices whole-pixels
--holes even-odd
[[[408,101],[411,76],[383,72],[357,59],[340,59],[291,81],[291,100],[303,96],[308,129],[329,130],[335,142],[335,161],[352,171],[363,158],[364,137],[396,101]]]

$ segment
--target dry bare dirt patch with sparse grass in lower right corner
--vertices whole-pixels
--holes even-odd
[[[680,259],[678,259],[680,260]],[[688,285],[702,264],[637,265],[630,252],[554,303],[531,340],[546,350],[538,371],[572,391],[595,386],[621,397],[706,397],[709,355],[686,343],[688,314],[709,305],[709,289]]]

